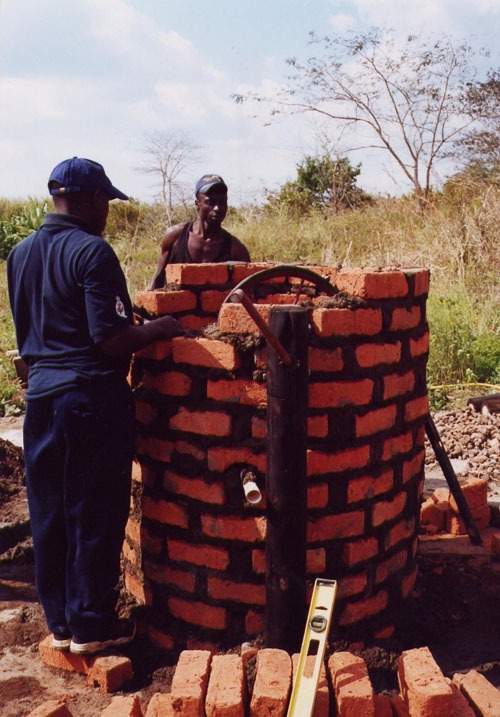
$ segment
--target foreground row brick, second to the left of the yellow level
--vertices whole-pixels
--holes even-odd
[[[239,655],[214,655],[205,699],[207,717],[245,717],[245,674]]]

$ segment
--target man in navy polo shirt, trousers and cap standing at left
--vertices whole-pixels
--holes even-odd
[[[26,486],[38,596],[56,649],[130,642],[115,608],[129,510],[131,354],[183,333],[164,316],[135,325],[125,277],[102,238],[109,202],[128,197],[79,157],[49,178],[55,212],[9,254],[9,299],[29,367]]]

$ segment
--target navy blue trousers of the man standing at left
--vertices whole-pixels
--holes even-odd
[[[51,632],[97,640],[114,617],[132,456],[125,381],[28,400],[24,457],[35,580]]]

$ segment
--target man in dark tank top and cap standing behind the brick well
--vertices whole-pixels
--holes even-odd
[[[167,264],[250,261],[246,246],[222,228],[227,214],[227,186],[218,174],[204,174],[196,182],[194,222],[176,224],[165,232],[150,289],[165,285]]]

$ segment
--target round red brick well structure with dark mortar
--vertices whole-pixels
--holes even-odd
[[[166,289],[137,296],[144,313],[197,332],[139,352],[131,372],[125,579],[167,649],[237,644],[264,627],[268,349],[244,307],[223,302],[265,268],[171,265]],[[338,581],[333,635],[388,637],[416,577],[429,272],[307,268],[337,293],[310,295],[294,278],[254,292],[264,319],[273,303],[310,306],[307,579]],[[243,469],[262,490],[257,505],[245,502]]]

